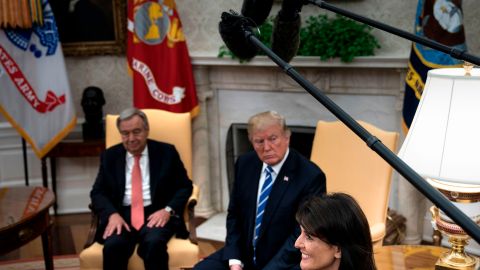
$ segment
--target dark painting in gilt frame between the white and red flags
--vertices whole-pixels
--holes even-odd
[[[125,0],[50,0],[63,53],[68,56],[125,53]]]

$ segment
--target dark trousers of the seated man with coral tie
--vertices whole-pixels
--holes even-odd
[[[147,209],[148,207],[145,208],[145,219],[151,214]],[[125,207],[121,214],[130,223],[130,208]],[[126,270],[128,260],[138,243],[137,254],[143,259],[145,270],[168,270],[167,243],[174,234],[175,222],[170,219],[164,227],[158,228],[148,228],[146,224],[145,220],[139,231],[129,225],[130,232],[123,228],[120,235],[114,234],[105,239],[103,269]]]

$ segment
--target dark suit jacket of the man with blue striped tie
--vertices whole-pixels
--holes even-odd
[[[245,264],[244,269],[254,269],[252,239],[262,165],[253,151],[240,156],[235,164],[223,259],[240,259]],[[325,191],[325,174],[314,163],[290,149],[265,209],[257,240],[257,269],[298,268],[301,254],[294,243],[300,227],[295,213],[307,197]]]

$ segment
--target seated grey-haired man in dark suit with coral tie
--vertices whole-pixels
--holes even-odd
[[[122,144],[102,153],[90,193],[100,218],[103,269],[127,269],[137,243],[145,269],[168,269],[168,240],[188,236],[183,209],[192,183],[173,145],[147,139],[142,111],[126,109],[117,127]]]

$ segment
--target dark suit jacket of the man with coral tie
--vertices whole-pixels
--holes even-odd
[[[167,143],[147,140],[150,164],[151,208],[154,211],[170,206],[175,211],[172,222],[178,223],[177,237],[186,238],[188,232],[183,220],[183,210],[192,194],[192,181],[175,146]],[[122,213],[123,196],[125,194],[125,167],[127,151],[122,144],[114,145],[100,156],[100,169],[93,184],[90,197],[93,211],[99,215],[101,236],[108,223],[108,217],[117,212]],[[129,222],[129,220],[126,220]],[[97,237],[97,240],[99,237]]]

